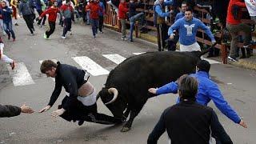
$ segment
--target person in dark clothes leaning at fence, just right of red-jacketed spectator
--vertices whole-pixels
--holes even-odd
[[[138,13],[136,12],[136,8],[138,8],[141,5],[141,1],[138,0],[138,2],[134,2],[134,0],[130,0],[129,2],[129,21],[130,21],[130,36],[129,40],[130,42],[133,41],[133,31],[134,31],[134,23],[138,18],[142,17],[144,14],[143,12]]]

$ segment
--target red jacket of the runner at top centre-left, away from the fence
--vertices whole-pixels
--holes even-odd
[[[103,13],[103,10],[101,6],[99,6],[98,2],[90,2],[90,4],[86,6],[86,11],[88,10],[90,10],[90,19],[98,19],[98,13]]]

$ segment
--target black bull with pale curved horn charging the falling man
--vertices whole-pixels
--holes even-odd
[[[125,120],[130,114],[121,130],[128,131],[147,99],[155,96],[148,89],[175,81],[182,74],[194,73],[196,63],[205,53],[166,51],[127,58],[110,71],[98,97],[115,118]]]

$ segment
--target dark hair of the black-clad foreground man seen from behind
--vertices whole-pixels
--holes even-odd
[[[178,90],[181,98],[195,98],[198,93],[198,81],[187,74],[182,75],[178,80]]]

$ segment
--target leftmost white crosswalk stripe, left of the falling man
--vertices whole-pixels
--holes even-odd
[[[16,63],[14,70],[11,70],[10,66],[8,66],[8,70],[13,76],[14,86],[26,86],[34,84],[34,81],[23,62]]]

